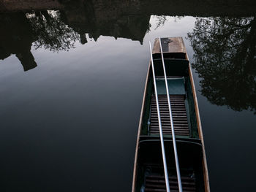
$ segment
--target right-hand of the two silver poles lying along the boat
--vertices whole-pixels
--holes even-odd
[[[178,191],[182,192],[181,173],[179,171],[179,165],[178,165],[178,153],[177,153],[176,138],[175,138],[174,127],[173,127],[173,115],[172,115],[172,109],[171,109],[171,106],[170,106],[170,94],[169,94],[169,88],[168,88],[166,71],[165,71],[164,55],[162,54],[161,38],[159,38],[159,45],[160,45],[161,56],[162,56],[162,68],[164,69],[164,74],[165,74],[165,88],[166,88],[167,99],[168,99],[168,107],[169,107],[169,112],[170,112],[170,126],[171,126],[172,136],[173,136],[173,150],[174,150],[174,155],[175,155],[176,172],[177,172],[177,177],[178,177]]]

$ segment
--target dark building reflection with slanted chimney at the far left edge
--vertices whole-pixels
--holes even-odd
[[[0,15],[0,59],[15,54],[24,71],[37,66],[30,51],[34,35],[29,20],[21,12]]]

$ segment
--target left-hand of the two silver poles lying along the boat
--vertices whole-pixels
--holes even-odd
[[[149,47],[150,47],[151,66],[152,66],[152,72],[153,72],[153,79],[154,79],[154,93],[155,93],[156,101],[157,101],[157,116],[158,116],[159,133],[160,133],[161,147],[162,147],[162,161],[164,163],[164,169],[165,169],[166,191],[170,192],[169,177],[168,177],[167,164],[166,164],[166,158],[165,158],[165,144],[164,144],[164,138],[162,136],[162,123],[161,123],[161,118],[160,118],[160,110],[159,110],[158,95],[157,95],[157,82],[156,82],[156,76],[154,74],[154,61],[153,61],[152,48],[151,48],[151,43],[150,42],[149,42]]]

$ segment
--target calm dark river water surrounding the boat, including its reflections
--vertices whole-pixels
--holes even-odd
[[[57,2],[0,13],[0,191],[131,191],[148,41],[177,36],[192,61],[211,191],[253,191],[252,7]]]

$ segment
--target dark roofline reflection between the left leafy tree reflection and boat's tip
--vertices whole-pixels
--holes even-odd
[[[138,9],[135,1],[66,1],[61,13],[66,18],[65,23],[80,34],[82,44],[86,42],[83,40],[86,33],[95,41],[104,35],[132,39],[142,44],[150,15],[138,13]]]

